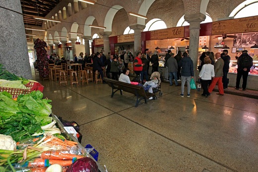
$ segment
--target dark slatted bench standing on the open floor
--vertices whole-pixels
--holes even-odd
[[[142,99],[144,99],[145,103],[147,103],[147,98],[149,97],[153,97],[154,100],[157,99],[155,93],[145,92],[142,86],[135,86],[108,78],[103,78],[103,81],[105,81],[110,87],[112,87],[111,97],[113,97],[118,90],[120,90],[121,95],[123,95],[122,90],[136,95],[135,107],[138,106],[139,102]]]

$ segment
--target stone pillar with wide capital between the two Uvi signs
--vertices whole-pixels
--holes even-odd
[[[204,21],[206,16],[202,13],[185,15],[185,20],[190,23],[190,42],[189,42],[189,57],[194,62],[194,81],[197,76],[197,60],[199,48],[200,22]]]

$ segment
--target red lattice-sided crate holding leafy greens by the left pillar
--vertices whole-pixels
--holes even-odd
[[[27,93],[30,93],[30,92],[36,91],[36,90],[43,92],[43,90],[44,90],[44,86],[42,86],[40,83],[29,82],[25,86],[30,89],[0,87],[0,91],[7,91],[12,95],[13,98],[15,98],[20,94],[27,94]]]

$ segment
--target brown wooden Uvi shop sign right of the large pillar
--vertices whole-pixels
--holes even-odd
[[[258,31],[258,16],[212,22],[212,35]]]

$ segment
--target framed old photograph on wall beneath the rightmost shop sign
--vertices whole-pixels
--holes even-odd
[[[258,32],[235,34],[234,47],[251,47],[258,44]]]

